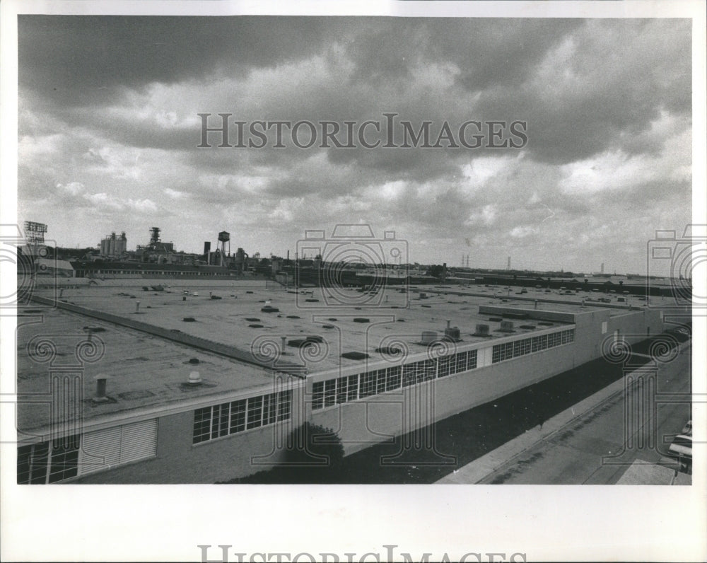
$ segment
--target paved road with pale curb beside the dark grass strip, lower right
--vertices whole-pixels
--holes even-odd
[[[575,405],[584,414],[563,412],[440,482],[614,484],[635,460],[657,463],[690,418],[689,403],[679,402],[689,400],[690,353],[686,342],[657,376],[648,366],[633,372],[648,386],[624,393],[617,381]]]

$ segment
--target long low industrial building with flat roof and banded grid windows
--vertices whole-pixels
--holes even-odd
[[[354,453],[686,313],[535,289],[143,283],[38,289],[18,310],[18,482],[228,480],[278,463],[307,421]]]

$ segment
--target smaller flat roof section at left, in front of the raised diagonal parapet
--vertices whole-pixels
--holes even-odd
[[[93,329],[91,339],[98,344],[100,354],[83,362],[84,422],[117,413],[124,415],[127,411],[138,413],[157,405],[162,409],[184,402],[198,405],[204,400],[216,402],[219,395],[249,395],[261,390],[268,393],[274,389],[275,379],[267,368],[33,303],[18,309],[18,429],[42,429],[49,424],[52,377],[81,373],[72,367],[80,365],[76,345],[86,341],[88,327]],[[53,359],[42,358],[49,348],[37,347],[40,342],[54,347]],[[197,359],[198,364],[192,364],[192,359]],[[186,383],[192,371],[199,371],[201,385]],[[95,396],[94,378],[98,374],[109,376],[106,395],[110,399],[94,404],[91,397]],[[76,412],[76,397],[66,396],[67,412]],[[74,419],[74,415],[69,418]]]

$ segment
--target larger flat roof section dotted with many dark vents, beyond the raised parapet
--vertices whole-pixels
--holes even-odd
[[[168,284],[166,291],[144,291],[143,286]],[[474,288],[476,291],[479,288]],[[486,289],[486,288],[481,288]],[[185,294],[185,291],[188,293]],[[170,331],[228,344],[244,351],[259,352],[262,347],[281,348],[286,342],[320,337],[322,342],[307,352],[286,346],[284,361],[305,363],[309,373],[321,373],[339,368],[354,371],[366,364],[385,361],[377,348],[391,347],[395,342],[407,347],[409,354],[426,353],[421,344],[424,331],[444,335],[447,320],[460,329],[457,348],[493,342],[508,336],[539,332],[566,323],[540,325],[537,320],[510,319],[513,332],[501,332],[501,316],[480,314],[479,306],[532,308],[533,301],[514,301],[515,292],[496,297],[486,295],[455,295],[433,291],[464,291],[459,286],[413,286],[403,294],[399,286],[381,290],[378,295],[363,294],[356,289],[333,291],[322,288],[267,289],[264,281],[236,284],[228,280],[194,283],[192,280],[105,280],[100,285],[64,289],[62,300],[91,310],[139,320]],[[500,290],[496,289],[496,293]],[[325,292],[325,293],[322,293]],[[37,290],[37,295],[52,294]],[[195,295],[196,294],[196,295]],[[425,296],[421,296],[425,294]],[[522,297],[532,296],[530,291]],[[542,298],[546,294],[538,294]],[[211,298],[211,297],[216,298]],[[559,297],[556,294],[553,296]],[[507,300],[507,301],[506,301]],[[139,311],[136,302],[140,303]],[[543,310],[579,313],[585,309],[578,303],[538,303]],[[341,303],[346,303],[341,306]],[[266,312],[263,308],[277,310]],[[194,319],[187,322],[185,318]],[[491,318],[496,320],[491,320]],[[85,324],[93,324],[86,320]],[[489,325],[489,337],[474,336],[479,324]],[[140,334],[138,332],[138,334]],[[155,339],[155,338],[153,338]],[[145,342],[152,342],[152,339]],[[141,349],[149,346],[139,345]],[[342,358],[345,352],[368,354],[367,361]],[[138,350],[137,354],[145,354]],[[390,356],[388,356],[390,359]]]

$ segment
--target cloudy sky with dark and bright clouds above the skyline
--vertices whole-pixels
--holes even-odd
[[[690,222],[689,20],[20,16],[18,50],[18,219],[62,246],[159,226],[284,255],[366,223],[411,262],[625,273]],[[522,120],[527,144],[199,148],[218,112]]]

